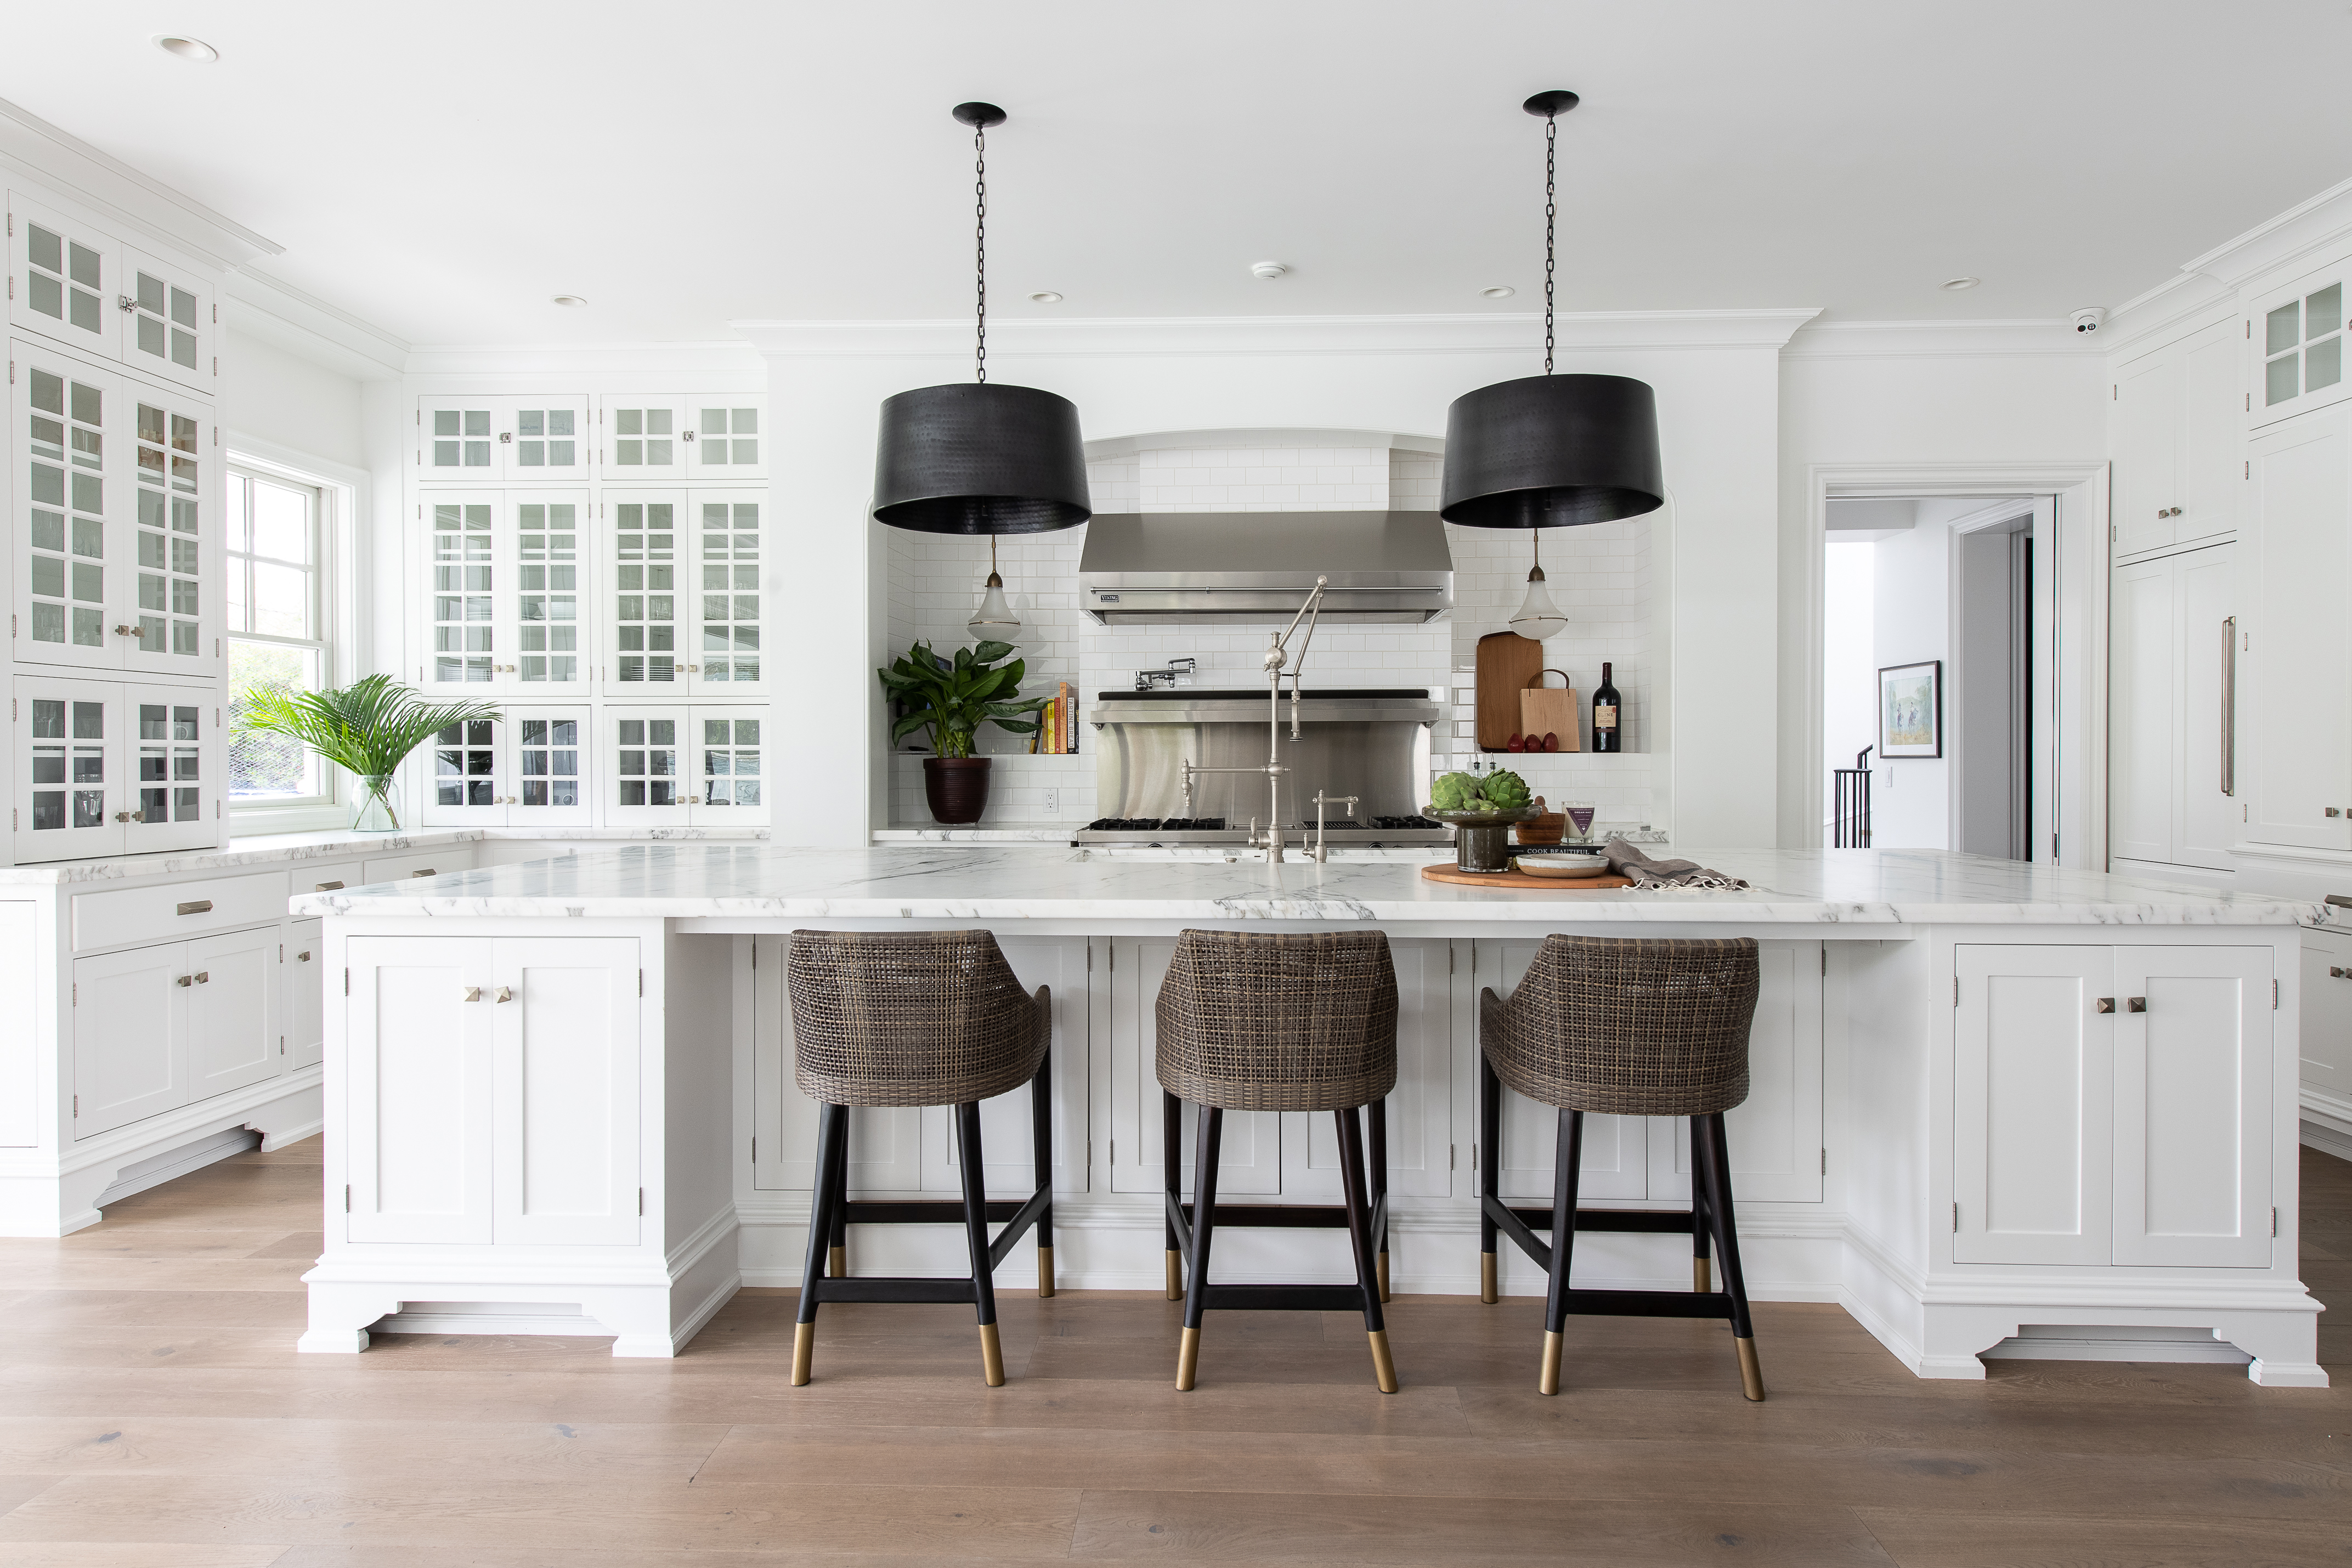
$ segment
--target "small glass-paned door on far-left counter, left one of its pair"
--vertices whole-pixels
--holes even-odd
[[[129,818],[120,776],[122,689],[19,679],[14,708],[16,863],[122,853]]]

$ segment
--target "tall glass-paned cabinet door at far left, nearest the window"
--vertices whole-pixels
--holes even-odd
[[[221,665],[221,449],[212,409],[181,393],[122,383],[132,411],[132,578],[125,663],[158,675]]]

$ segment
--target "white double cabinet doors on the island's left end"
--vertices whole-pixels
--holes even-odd
[[[640,1239],[635,938],[367,936],[346,959],[350,1241]]]

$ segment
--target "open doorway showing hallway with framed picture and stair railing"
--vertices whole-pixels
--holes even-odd
[[[2056,863],[2056,498],[1830,496],[1823,844]]]

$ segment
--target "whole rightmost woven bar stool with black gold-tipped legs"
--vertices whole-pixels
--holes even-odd
[[[1752,940],[1625,940],[1548,936],[1510,1001],[1479,992],[1479,1276],[1496,1300],[1496,1232],[1552,1276],[1543,1302],[1545,1394],[1559,1392],[1559,1345],[1569,1314],[1719,1316],[1731,1321],[1740,1392],[1764,1399],[1740,1237],[1731,1215],[1724,1112],[1748,1098],[1748,1027],[1757,1011]],[[1503,1084],[1559,1107],[1552,1206],[1510,1208],[1496,1197],[1503,1168]],[[1585,1114],[1689,1117],[1691,1211],[1576,1208]],[[1534,1227],[1550,1229],[1550,1244]],[[1691,1293],[1576,1291],[1576,1232],[1691,1232]],[[1724,1288],[1708,1288],[1708,1241]]]

